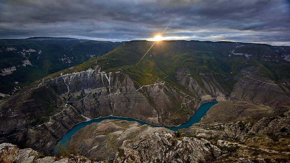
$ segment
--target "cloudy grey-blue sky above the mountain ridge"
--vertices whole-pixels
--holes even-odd
[[[209,40],[290,46],[290,0],[1,0],[0,39]]]

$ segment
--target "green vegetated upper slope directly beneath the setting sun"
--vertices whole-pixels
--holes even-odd
[[[66,73],[99,65],[107,72],[122,69],[139,86],[159,80],[184,90],[176,81],[176,72],[188,68],[201,87],[203,74],[212,74],[214,79],[209,84],[220,84],[220,89],[226,92],[233,89],[234,76],[241,75],[240,71],[249,66],[256,67],[260,78],[277,83],[281,79],[290,78],[290,63],[274,51],[277,48],[275,46],[235,42],[159,41],[139,62],[152,43],[154,42],[126,42],[106,55],[91,58],[84,64],[66,70]],[[268,57],[267,60],[263,60],[265,56]],[[51,76],[58,76],[59,73],[61,72]],[[204,87],[203,89],[206,90]]]

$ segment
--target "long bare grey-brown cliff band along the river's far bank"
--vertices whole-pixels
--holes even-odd
[[[40,80],[1,100],[0,114],[6,116],[0,117],[4,122],[0,142],[49,153],[68,129],[86,120],[82,115],[114,115],[175,126],[188,121],[199,105],[198,99],[179,94],[163,82],[138,88],[122,70],[105,73],[95,67]]]

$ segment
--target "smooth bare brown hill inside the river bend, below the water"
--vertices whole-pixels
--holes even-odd
[[[90,160],[114,159],[117,148],[127,139],[138,140],[154,132],[172,132],[162,127],[140,125],[126,120],[103,120],[80,129],[71,138],[70,147]]]

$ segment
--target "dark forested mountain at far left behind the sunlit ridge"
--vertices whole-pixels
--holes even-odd
[[[106,54],[120,44],[65,37],[0,40],[0,98],[51,73]]]

